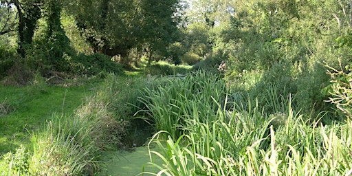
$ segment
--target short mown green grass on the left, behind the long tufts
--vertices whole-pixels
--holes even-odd
[[[0,86],[0,103],[12,109],[0,114],[0,155],[21,144],[29,146],[31,133],[43,129],[54,114],[73,114],[83,98],[91,94],[92,86]]]

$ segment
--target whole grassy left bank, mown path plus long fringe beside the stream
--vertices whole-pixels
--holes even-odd
[[[26,87],[1,87],[1,175],[99,173],[102,151],[125,147],[126,129],[142,107],[137,97],[159,84],[155,76],[107,74],[58,85],[34,80]]]

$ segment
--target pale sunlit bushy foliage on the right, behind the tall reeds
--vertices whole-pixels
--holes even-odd
[[[232,34],[223,37],[233,42],[227,79],[236,79],[243,70],[264,71],[253,89],[256,95],[276,85],[278,95],[292,94],[293,104],[306,115],[330,111],[324,101],[329,77],[321,63],[351,61],[347,1],[250,1],[234,2],[232,7],[236,13],[226,31]]]

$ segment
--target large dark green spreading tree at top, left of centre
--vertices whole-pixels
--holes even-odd
[[[67,5],[95,52],[126,59],[129,50],[148,43],[167,45],[177,30],[177,0],[75,0]],[[128,62],[122,59],[122,62]]]

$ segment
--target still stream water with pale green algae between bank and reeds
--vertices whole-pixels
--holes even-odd
[[[144,120],[136,119],[131,121],[129,129],[122,141],[123,148],[118,151],[102,153],[101,161],[104,166],[98,175],[124,176],[139,175],[142,172],[157,173],[159,171],[155,166],[147,164],[151,162],[147,143],[153,135],[153,128]],[[158,151],[158,149],[153,145],[151,146],[151,151]],[[154,163],[162,163],[162,159],[159,159],[156,155],[152,155],[152,157]]]

